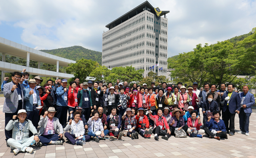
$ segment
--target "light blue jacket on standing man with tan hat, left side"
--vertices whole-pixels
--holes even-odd
[[[30,88],[24,90],[24,104],[26,111],[33,111],[33,95],[30,95],[29,92],[31,91]],[[35,93],[35,89],[33,90]],[[37,105],[41,105],[41,99],[39,96],[39,91],[36,90],[36,97],[37,97]]]

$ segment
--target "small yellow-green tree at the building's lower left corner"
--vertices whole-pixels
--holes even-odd
[[[111,70],[109,70],[106,66],[101,66],[99,65],[94,69],[91,73],[90,76],[94,77],[96,81],[106,81],[106,77],[110,74]]]

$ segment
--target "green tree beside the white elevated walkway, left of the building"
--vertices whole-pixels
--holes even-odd
[[[86,77],[89,76],[90,72],[92,72],[98,65],[99,63],[96,61],[82,58],[75,63],[68,64],[66,71],[70,74],[74,73],[75,77],[80,78],[80,83],[83,83],[86,80]]]

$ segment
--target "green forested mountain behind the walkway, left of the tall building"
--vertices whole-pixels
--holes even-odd
[[[40,50],[45,53],[49,53],[52,55],[56,55],[62,58],[67,58],[69,60],[80,60],[82,58],[84,59],[92,59],[93,61],[98,62],[101,64],[101,52],[94,51],[90,49],[83,48],[81,46],[73,46],[73,47],[67,47],[67,48],[58,48],[58,49],[52,49],[52,50]]]

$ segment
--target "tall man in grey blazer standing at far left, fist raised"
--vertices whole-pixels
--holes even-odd
[[[19,83],[22,75],[20,72],[13,72],[12,73],[12,82],[6,83],[4,85],[4,107],[3,113],[5,113],[5,127],[8,122],[12,119],[13,115],[17,115],[18,111],[23,107],[23,89],[24,87]],[[5,130],[5,137],[6,137],[6,145],[7,140],[12,137],[12,130],[6,131]]]

